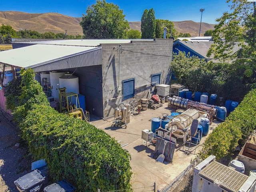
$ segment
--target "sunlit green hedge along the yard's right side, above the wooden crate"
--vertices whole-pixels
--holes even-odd
[[[232,155],[238,144],[243,145],[256,127],[256,89],[250,91],[242,102],[219,124],[203,144],[200,157],[215,155],[216,159]]]

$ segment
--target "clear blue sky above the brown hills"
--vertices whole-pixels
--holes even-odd
[[[145,9],[154,8],[157,19],[170,21],[192,20],[200,22],[200,9],[204,8],[202,22],[215,24],[216,18],[230,11],[226,0],[106,0],[124,11],[126,20],[140,21]],[[72,17],[82,17],[88,6],[96,0],[1,0],[0,11],[21,11],[28,13],[58,12]]]

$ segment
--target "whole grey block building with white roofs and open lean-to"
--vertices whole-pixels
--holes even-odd
[[[32,68],[42,86],[51,86],[57,103],[58,88],[66,86],[80,94],[84,110],[104,118],[120,103],[146,98],[156,84],[170,85],[172,44],[172,38],[15,40],[13,50],[0,52],[0,64]]]

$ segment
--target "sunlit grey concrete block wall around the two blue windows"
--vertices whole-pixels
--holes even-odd
[[[162,82],[169,82],[172,44],[173,39],[141,40],[121,44],[119,77],[119,44],[101,44],[104,117],[113,115],[114,108],[120,103],[129,103],[132,100],[123,100],[122,91],[116,92],[118,86],[122,88],[122,80],[135,78],[137,96],[143,96],[143,92],[150,90],[152,74],[162,73]]]

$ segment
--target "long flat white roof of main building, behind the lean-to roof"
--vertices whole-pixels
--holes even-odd
[[[75,40],[44,40],[44,41],[29,41],[29,42],[14,42],[26,44],[54,44],[54,45],[77,45],[77,46],[100,46],[100,44],[122,44],[130,43],[131,41],[153,41],[154,39],[75,39]]]

